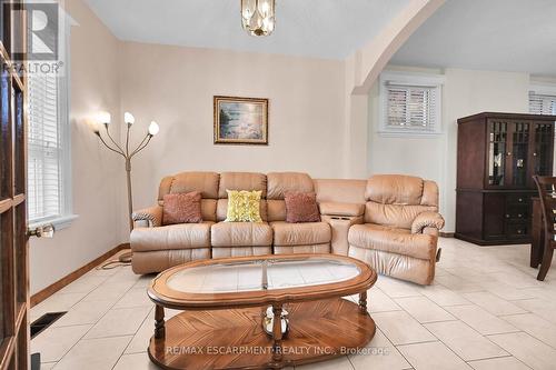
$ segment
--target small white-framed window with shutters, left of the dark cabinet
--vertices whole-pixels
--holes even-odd
[[[441,78],[383,73],[380,132],[440,133]]]

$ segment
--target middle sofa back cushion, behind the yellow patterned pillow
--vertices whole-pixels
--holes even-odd
[[[216,204],[216,220],[226,220],[228,212],[228,192],[226,190],[257,190],[260,197],[260,218],[267,221],[267,176],[258,172],[222,172],[218,188],[218,202]]]

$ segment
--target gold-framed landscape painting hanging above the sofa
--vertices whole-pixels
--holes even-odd
[[[268,99],[215,97],[215,143],[268,144]]]

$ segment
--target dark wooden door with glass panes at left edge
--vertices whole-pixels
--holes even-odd
[[[21,2],[0,1],[0,370],[24,370],[29,368],[27,97],[21,60],[12,56],[13,50],[26,50],[26,22],[23,12],[14,11]]]

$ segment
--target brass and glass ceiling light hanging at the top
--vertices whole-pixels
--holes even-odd
[[[269,36],[275,29],[275,0],[241,0],[241,26],[251,36]]]

